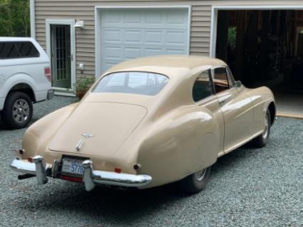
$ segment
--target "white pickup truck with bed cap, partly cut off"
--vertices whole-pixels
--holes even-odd
[[[51,99],[50,61],[33,38],[0,37],[0,115],[10,129],[26,127],[33,103]]]

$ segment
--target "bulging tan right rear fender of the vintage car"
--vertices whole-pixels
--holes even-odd
[[[167,184],[211,166],[218,157],[218,125],[212,113],[181,107],[162,117],[139,147],[139,174],[149,174],[148,187]]]

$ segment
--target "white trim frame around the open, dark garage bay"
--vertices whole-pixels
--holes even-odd
[[[300,10],[303,9],[301,5],[228,5],[228,6],[212,6],[211,7],[211,43],[209,55],[216,57],[216,42],[217,42],[217,22],[218,10]]]

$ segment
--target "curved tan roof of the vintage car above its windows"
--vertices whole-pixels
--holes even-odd
[[[220,65],[226,64],[223,60],[203,56],[152,56],[124,61],[110,68],[107,73],[146,71],[174,77],[175,75],[186,74],[197,68],[206,69]]]

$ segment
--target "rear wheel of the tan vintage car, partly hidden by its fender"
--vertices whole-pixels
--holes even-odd
[[[187,176],[179,181],[181,189],[189,194],[196,194],[202,191],[206,186],[206,181],[209,178],[211,167],[207,167],[201,171]]]

